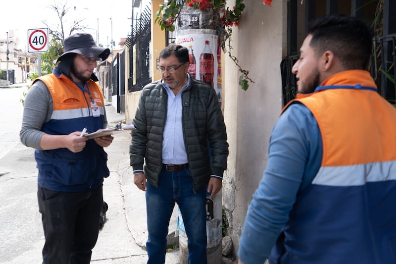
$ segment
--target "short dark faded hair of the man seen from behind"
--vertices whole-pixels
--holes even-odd
[[[367,68],[373,32],[365,21],[341,14],[327,15],[308,25],[309,34],[309,46],[316,54],[333,52],[347,70]]]

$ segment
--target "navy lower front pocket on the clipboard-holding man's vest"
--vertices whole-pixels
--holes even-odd
[[[79,185],[88,182],[89,159],[53,158],[50,177],[63,185]]]

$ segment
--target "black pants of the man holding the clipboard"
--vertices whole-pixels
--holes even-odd
[[[85,192],[37,192],[46,243],[43,264],[89,264],[99,234],[102,186]]]

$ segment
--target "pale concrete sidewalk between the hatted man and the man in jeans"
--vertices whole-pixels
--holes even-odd
[[[117,113],[113,106],[105,106],[110,125],[125,120],[124,113]],[[106,222],[99,232],[98,242],[93,250],[93,264],[145,264],[147,263],[146,199],[145,193],[133,183],[132,167],[129,165],[128,132],[114,135],[113,143],[105,149],[108,154],[110,176],[104,180],[103,198],[108,204]],[[176,243],[173,232],[176,229],[177,210],[174,210],[169,224],[170,244]],[[166,254],[166,264],[179,263],[179,251]]]

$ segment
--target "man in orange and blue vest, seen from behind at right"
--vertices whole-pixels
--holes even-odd
[[[239,263],[396,263],[396,109],[366,70],[372,32],[344,15],[308,28],[297,99],[271,133]]]

